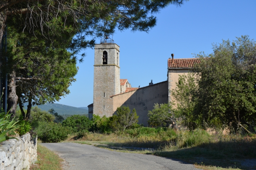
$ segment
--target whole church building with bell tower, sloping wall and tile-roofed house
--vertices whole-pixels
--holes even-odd
[[[99,116],[112,116],[117,107],[129,106],[136,109],[139,115],[139,124],[148,125],[148,111],[154,104],[163,104],[171,101],[171,90],[176,88],[178,75],[188,74],[195,63],[200,63],[197,58],[168,59],[167,81],[149,86],[132,87],[127,79],[120,79],[120,47],[106,36],[94,48],[94,85],[93,104],[88,105],[89,119],[93,114]]]

